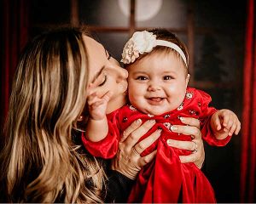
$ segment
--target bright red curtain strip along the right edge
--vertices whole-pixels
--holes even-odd
[[[241,202],[256,202],[256,34],[254,6],[254,0],[248,0],[241,120]]]

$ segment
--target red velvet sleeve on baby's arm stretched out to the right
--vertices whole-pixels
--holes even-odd
[[[204,140],[207,141],[208,144],[213,146],[224,146],[228,144],[231,137],[228,136],[225,139],[216,139],[214,134],[212,133],[212,128],[210,125],[212,115],[217,111],[215,108],[209,106],[212,98],[209,94],[198,90],[201,94],[201,135]]]

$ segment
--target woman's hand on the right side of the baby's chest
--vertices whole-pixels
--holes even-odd
[[[194,162],[197,167],[201,168],[205,161],[205,150],[201,139],[200,122],[192,117],[182,117],[181,122],[187,126],[174,125],[172,132],[191,135],[192,141],[168,139],[167,144],[178,149],[191,150],[192,154],[189,156],[179,156],[181,162]]]

